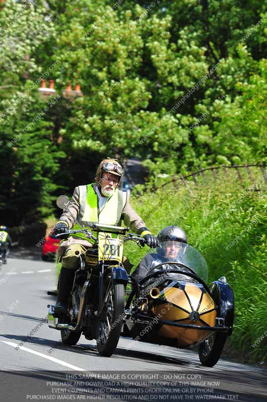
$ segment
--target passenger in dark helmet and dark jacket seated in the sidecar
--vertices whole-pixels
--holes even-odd
[[[181,253],[182,247],[184,247],[183,253],[186,251],[187,236],[179,226],[167,226],[159,232],[157,239],[160,243],[164,242],[164,247],[161,245],[161,247],[157,248],[157,253],[148,253],[141,260],[136,270],[131,274],[137,282],[147,276],[156,265],[162,262],[175,261],[177,254]],[[159,269],[162,270],[167,267],[166,264],[159,267]]]

